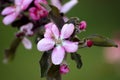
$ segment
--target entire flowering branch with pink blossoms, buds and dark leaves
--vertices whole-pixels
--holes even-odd
[[[11,25],[19,29],[16,38],[9,49],[5,51],[5,62],[14,57],[20,42],[26,49],[32,49],[29,37],[37,36],[37,49],[43,52],[40,59],[41,77],[51,77],[57,80],[56,75],[69,72],[66,61],[67,53],[71,53],[71,59],[81,68],[82,61],[77,50],[95,46],[115,46],[109,39],[99,35],[92,35],[83,39],[78,36],[87,28],[86,21],[78,18],[67,18],[65,14],[78,3],[78,0],[70,0],[62,5],[62,0],[6,0],[12,6],[1,6],[1,15],[4,16],[3,24]],[[54,69],[55,70],[54,70]],[[59,76],[60,77],[60,76]],[[60,79],[58,79],[60,80]]]

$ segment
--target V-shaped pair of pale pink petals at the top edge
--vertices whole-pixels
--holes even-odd
[[[51,3],[56,6],[61,13],[67,13],[73,6],[78,3],[78,0],[70,0],[64,5],[61,5],[60,0],[51,0]]]

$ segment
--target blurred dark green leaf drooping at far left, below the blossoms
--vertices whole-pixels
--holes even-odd
[[[15,38],[13,40],[13,42],[11,43],[10,48],[5,50],[5,54],[4,54],[5,63],[14,59],[15,52],[16,52],[21,40],[22,40],[21,38]]]

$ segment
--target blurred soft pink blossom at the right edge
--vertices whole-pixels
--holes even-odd
[[[120,63],[120,40],[114,39],[114,41],[118,45],[117,48],[110,47],[104,49],[104,56],[106,62],[110,64]]]

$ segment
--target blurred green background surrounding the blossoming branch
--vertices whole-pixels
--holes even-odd
[[[79,0],[68,17],[79,17],[87,21],[87,30],[79,37],[101,34],[112,38],[114,32],[120,32],[120,0]],[[33,44],[32,50],[26,50],[20,44],[15,60],[3,64],[4,49],[8,48],[17,30],[4,26],[0,17],[0,80],[45,80],[40,78],[39,60],[42,55]],[[34,39],[31,38],[34,42]],[[79,70],[68,57],[70,72],[63,80],[120,80],[120,66],[105,63],[103,48],[80,49],[83,66]]]

